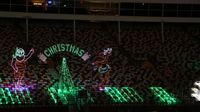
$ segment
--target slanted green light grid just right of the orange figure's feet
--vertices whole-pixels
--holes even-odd
[[[143,102],[143,98],[130,87],[105,87],[105,93],[109,95],[113,102],[116,103],[131,103],[131,102]]]

